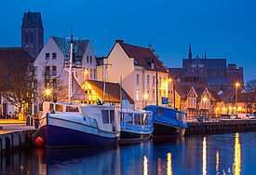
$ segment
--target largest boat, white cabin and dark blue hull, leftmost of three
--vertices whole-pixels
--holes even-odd
[[[120,125],[114,106],[83,103],[43,103],[41,135],[47,148],[115,144]]]

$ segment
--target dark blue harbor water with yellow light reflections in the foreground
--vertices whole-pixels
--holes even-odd
[[[256,174],[256,132],[1,156],[0,174]]]

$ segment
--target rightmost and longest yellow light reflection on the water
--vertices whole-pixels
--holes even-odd
[[[235,175],[239,175],[240,172],[241,172],[241,146],[239,143],[239,133],[236,133],[233,173]]]

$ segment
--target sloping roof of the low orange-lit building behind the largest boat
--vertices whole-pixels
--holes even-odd
[[[103,82],[96,80],[86,80],[93,90],[96,91],[97,95],[101,97],[103,95]],[[127,99],[131,104],[134,104],[134,101],[128,96],[128,93],[122,88],[123,96],[122,99]],[[118,83],[106,82],[106,102],[120,102],[120,85]]]

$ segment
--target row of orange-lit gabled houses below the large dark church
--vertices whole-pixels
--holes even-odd
[[[190,78],[170,84],[168,106],[185,112],[188,118],[198,115],[214,116],[214,109],[220,101],[217,92],[209,89],[205,82],[198,83],[191,80]]]

